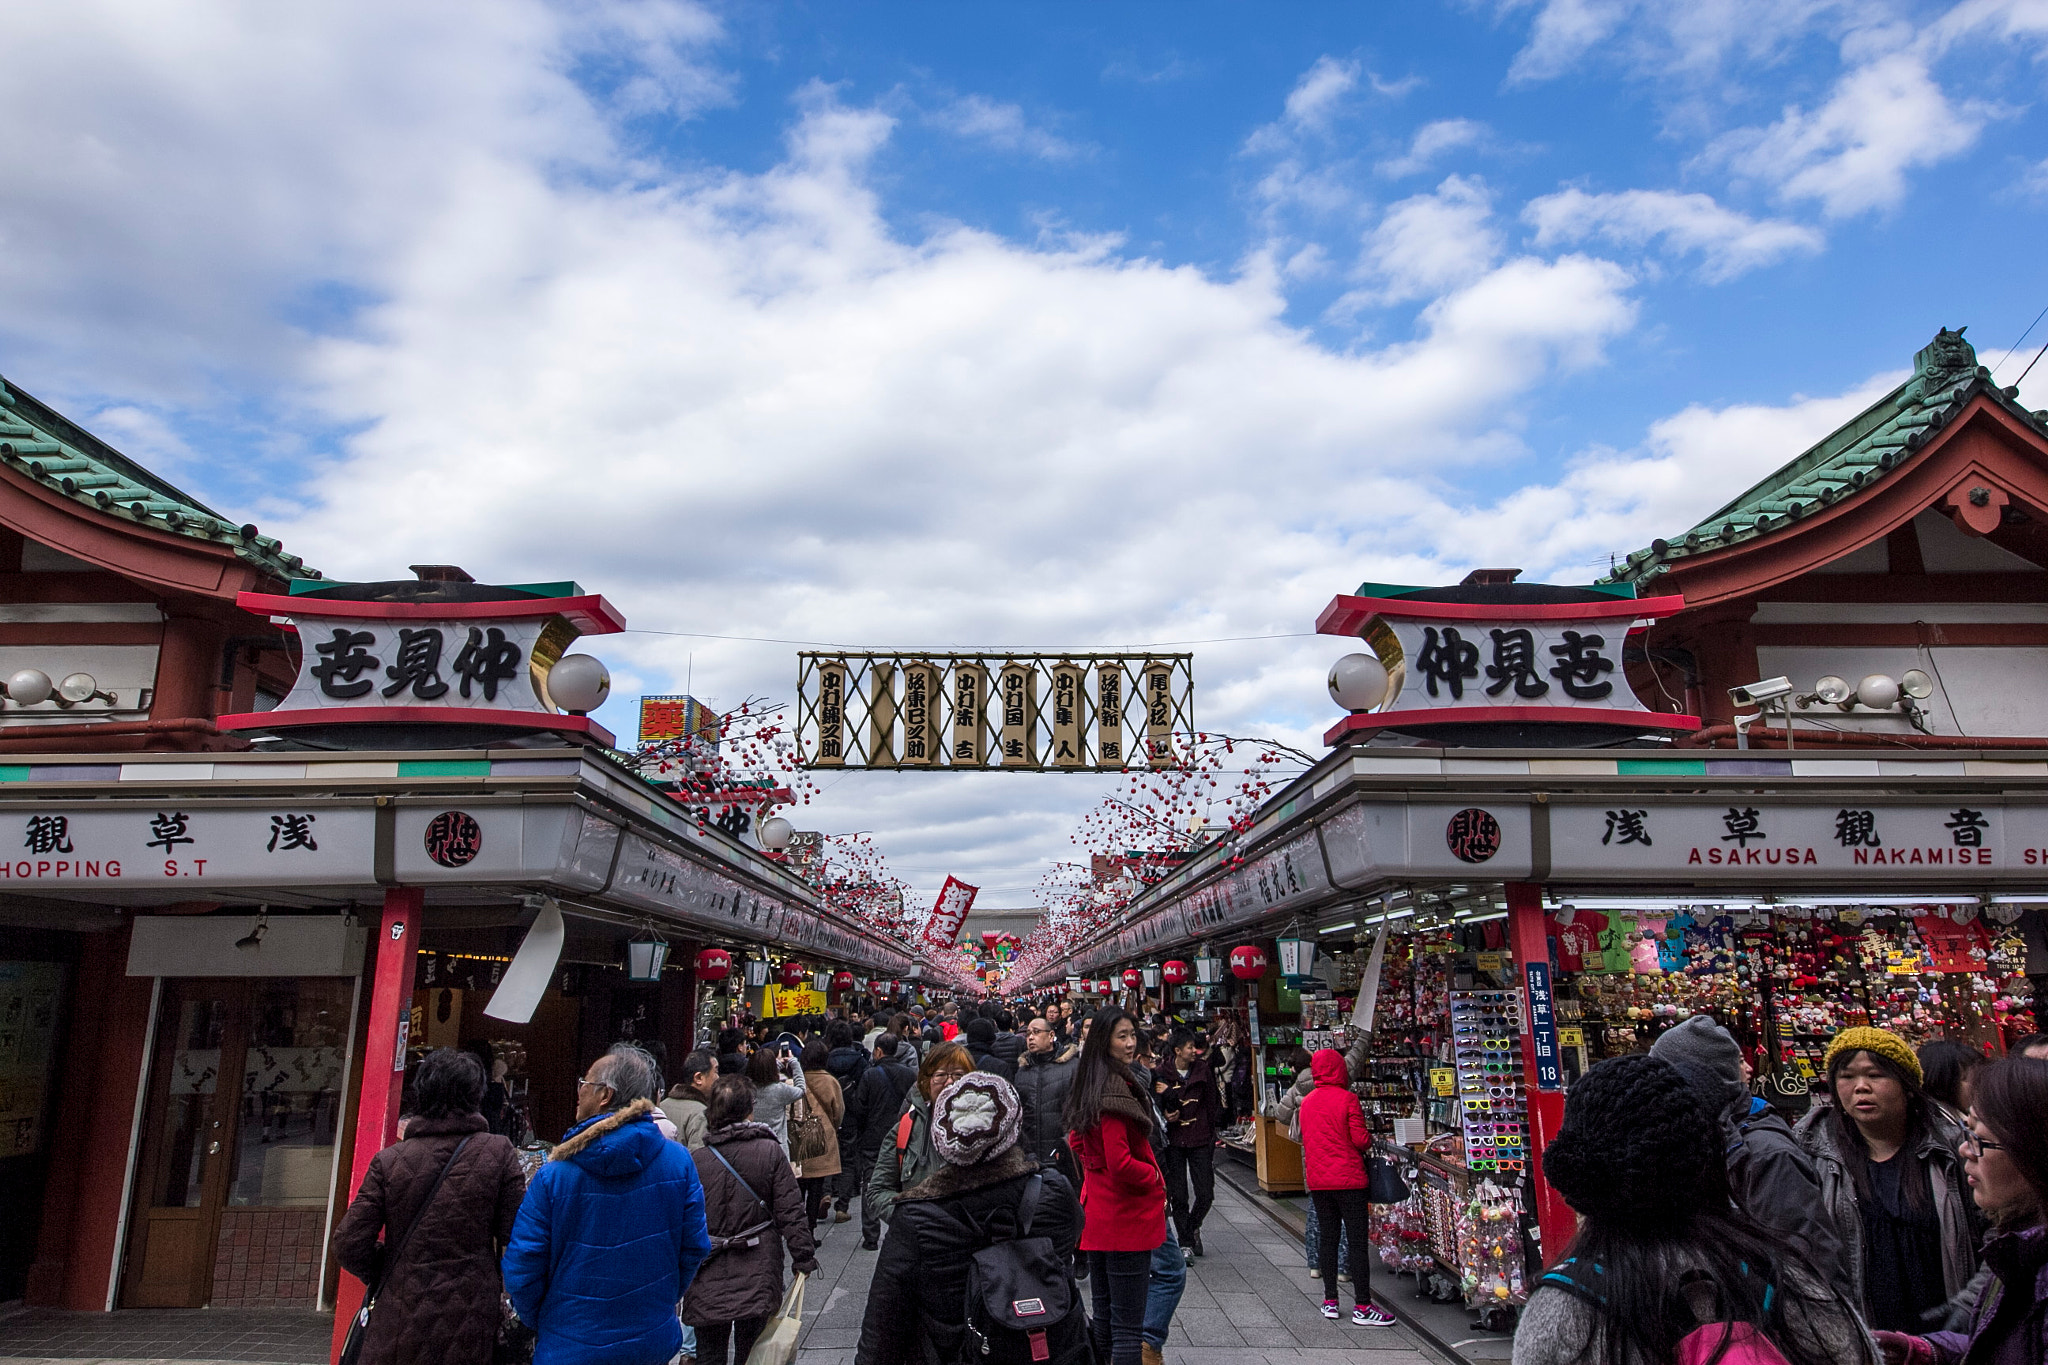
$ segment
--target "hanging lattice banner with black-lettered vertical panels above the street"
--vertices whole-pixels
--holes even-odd
[[[1171,767],[1194,655],[797,655],[805,767]]]

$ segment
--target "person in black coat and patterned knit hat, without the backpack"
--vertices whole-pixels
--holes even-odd
[[[1030,1236],[1051,1238],[1059,1265],[1069,1263],[1081,1236],[1081,1205],[1059,1171],[1040,1171],[1018,1146],[1022,1113],[1016,1089],[993,1072],[969,1072],[938,1095],[932,1148],[940,1166],[897,1197],[854,1365],[975,1357],[963,1318],[969,1263],[997,1238],[1022,1232],[1018,1212],[1034,1177]],[[1067,1318],[1044,1328],[1051,1365],[1087,1359],[1081,1295],[1073,1291],[1069,1302]]]

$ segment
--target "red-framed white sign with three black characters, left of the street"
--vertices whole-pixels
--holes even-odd
[[[242,593],[248,612],[299,634],[299,677],[276,710],[221,716],[221,729],[293,724],[508,724],[592,731],[547,694],[580,634],[625,628],[600,596],[502,602],[360,602]]]

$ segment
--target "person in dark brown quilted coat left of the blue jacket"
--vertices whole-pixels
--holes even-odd
[[[477,1111],[483,1085],[473,1054],[430,1052],[406,1138],[371,1158],[334,1228],[334,1259],[377,1287],[356,1365],[492,1359],[504,1318],[498,1244],[512,1236],[526,1177]]]

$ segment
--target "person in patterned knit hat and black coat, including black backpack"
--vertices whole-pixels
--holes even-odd
[[[938,1166],[897,1195],[854,1365],[1079,1365],[1087,1314],[1069,1265],[1081,1205],[1018,1142],[1022,1101],[969,1072],[932,1105]],[[983,1349],[985,1345],[985,1349]]]

